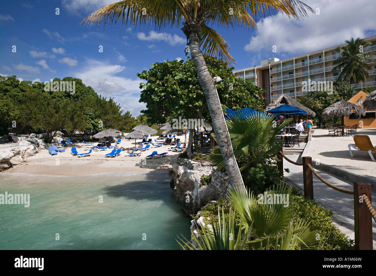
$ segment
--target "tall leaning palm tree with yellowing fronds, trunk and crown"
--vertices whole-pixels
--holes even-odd
[[[93,12],[83,23],[99,25],[103,19],[106,27],[121,18],[123,24],[152,24],[156,29],[183,26],[181,30],[187,38],[187,46],[189,45],[185,47],[185,53],[190,50],[196,66],[227,175],[233,185],[244,188],[212,79],[215,76],[210,75],[203,52],[232,64],[235,60],[229,54],[227,41],[209,25],[255,29],[254,18],[259,16],[282,12],[288,17],[299,18],[307,16],[307,10],[313,12],[298,0],[202,0],[201,3],[199,0],[124,0]]]

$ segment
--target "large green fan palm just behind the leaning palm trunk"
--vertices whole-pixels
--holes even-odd
[[[252,177],[253,172],[250,173],[250,170],[252,167],[257,168],[258,164],[262,164],[262,167],[269,171],[268,167],[276,165],[273,160],[277,150],[282,146],[282,142],[276,141],[276,135],[291,120],[290,118],[282,124],[277,124],[273,117],[258,114],[245,119],[235,118],[227,121],[235,158],[246,186],[253,190],[261,189],[259,186],[252,185],[256,183],[257,179]],[[213,136],[215,137],[215,135]],[[211,150],[210,160],[218,169],[224,170],[223,158],[218,147]],[[265,176],[271,179],[271,175]]]

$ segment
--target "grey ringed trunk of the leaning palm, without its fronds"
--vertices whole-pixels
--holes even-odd
[[[226,122],[224,121],[219,97],[208,67],[206,66],[204,56],[200,50],[196,31],[190,30],[189,32],[189,46],[193,63],[196,66],[197,77],[199,78],[200,85],[208,103],[214,133],[221,149],[229,181],[232,186],[244,190],[244,182],[241,178],[238,163],[232,150],[230,135],[227,130]]]

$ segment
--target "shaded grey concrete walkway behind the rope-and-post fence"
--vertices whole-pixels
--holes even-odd
[[[299,155],[287,155],[292,161],[297,161]],[[298,162],[301,162],[300,160]],[[284,173],[288,182],[291,182],[303,193],[303,166],[294,165],[284,159],[284,168],[290,169],[290,173]],[[322,170],[315,169],[320,175],[332,184],[344,189],[353,190],[353,183]],[[332,210],[334,224],[345,234],[354,240],[354,204],[353,196],[338,192],[321,182],[315,175],[313,177],[313,195],[317,204]],[[372,192],[372,203],[375,206],[376,193]],[[376,249],[376,222],[372,219],[373,249]]]

